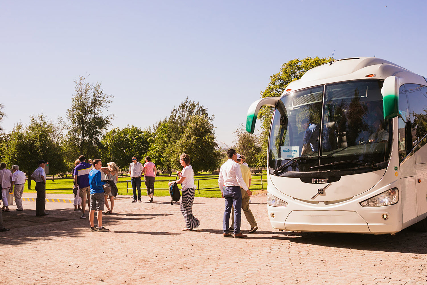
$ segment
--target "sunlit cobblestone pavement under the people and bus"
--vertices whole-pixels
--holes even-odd
[[[50,198],[70,198],[50,195]],[[24,194],[24,197],[29,197]],[[145,201],[144,201],[145,200]],[[222,238],[222,198],[196,197],[199,229],[183,232],[179,203],[116,200],[104,215],[110,232],[90,232],[69,203],[35,203],[3,213],[1,284],[426,284],[425,233],[391,235],[278,232],[266,194],[252,197],[259,229],[246,239]]]

